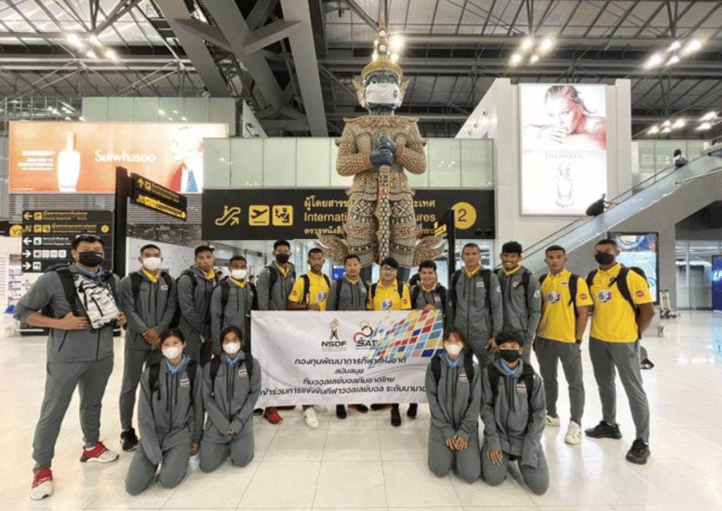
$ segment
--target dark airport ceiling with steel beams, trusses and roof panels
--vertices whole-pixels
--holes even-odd
[[[722,110],[718,0],[4,0],[0,119],[77,118],[84,96],[211,94],[245,99],[271,135],[338,135],[363,112],[352,79],[382,13],[404,37],[399,113],[427,136],[456,135],[497,77],[630,79],[637,137]],[[529,35],[554,45],[513,65]],[[679,62],[645,66],[677,42]],[[668,136],[711,137],[693,126]]]

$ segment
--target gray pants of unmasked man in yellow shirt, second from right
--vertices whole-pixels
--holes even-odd
[[[582,424],[584,413],[584,381],[582,378],[581,345],[574,342],[559,342],[544,337],[536,337],[536,360],[539,360],[539,372],[544,380],[544,396],[547,398],[547,414],[557,417],[557,365],[562,361],[564,376],[569,385],[571,419]]]

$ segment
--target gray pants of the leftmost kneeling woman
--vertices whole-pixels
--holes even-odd
[[[173,448],[163,451],[163,462],[160,465],[158,482],[164,488],[175,488],[181,484],[188,471],[188,460],[191,458],[191,444],[181,443]],[[126,474],[126,492],[138,495],[153,484],[158,466],[151,463],[143,449],[143,443],[138,444],[133,460]]]

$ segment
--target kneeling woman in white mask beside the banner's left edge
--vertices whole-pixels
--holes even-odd
[[[221,333],[223,353],[203,370],[203,402],[208,412],[201,443],[201,470],[214,471],[230,445],[235,466],[253,459],[253,407],[261,392],[258,360],[241,350],[243,334],[236,326]]]

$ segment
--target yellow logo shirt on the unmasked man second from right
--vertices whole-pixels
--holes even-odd
[[[536,334],[544,339],[559,342],[576,342],[576,318],[574,307],[569,304],[572,299],[569,280],[572,272],[562,270],[558,275],[549,273],[541,283],[541,319]],[[591,306],[591,296],[586,281],[577,277],[577,296],[574,302],[577,307]]]

